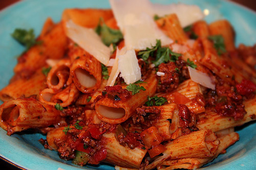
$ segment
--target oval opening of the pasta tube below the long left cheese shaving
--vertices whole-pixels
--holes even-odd
[[[75,74],[79,83],[86,88],[93,87],[97,82],[96,78],[85,69],[77,68]]]

